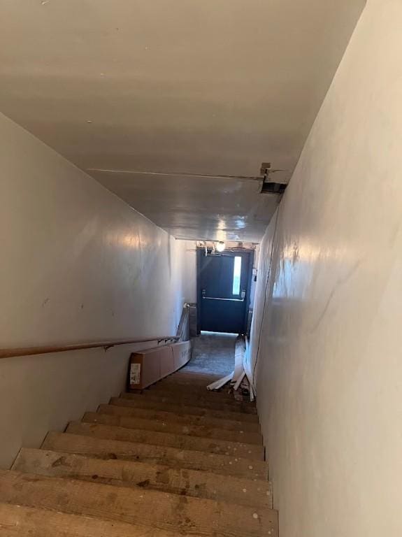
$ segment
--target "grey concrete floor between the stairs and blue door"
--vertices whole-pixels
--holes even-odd
[[[186,366],[187,371],[228,375],[234,370],[234,349],[236,334],[217,334],[201,332],[192,338],[192,359]]]

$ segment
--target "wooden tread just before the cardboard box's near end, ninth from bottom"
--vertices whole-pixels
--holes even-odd
[[[174,394],[174,395],[164,395],[158,394],[157,392],[152,392],[149,389],[145,389],[141,394],[132,394],[123,392],[120,394],[122,399],[130,399],[132,401],[138,401],[138,399],[150,399],[152,401],[160,401],[161,403],[176,404],[176,405],[189,405],[197,406],[201,408],[208,408],[212,410],[224,410],[226,412],[241,413],[241,414],[254,414],[257,415],[257,408],[252,406],[252,403],[240,403],[238,401],[210,401],[203,397],[195,397],[194,395],[189,394]]]

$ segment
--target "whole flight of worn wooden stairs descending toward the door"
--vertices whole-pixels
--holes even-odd
[[[1,537],[278,536],[257,410],[182,369],[22,448]]]

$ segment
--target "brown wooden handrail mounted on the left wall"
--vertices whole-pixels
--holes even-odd
[[[80,350],[80,349],[96,349],[103,347],[105,350],[115,345],[130,345],[134,343],[150,343],[151,341],[157,341],[160,343],[164,341],[178,341],[175,336],[161,336],[157,338],[134,338],[134,339],[119,339],[116,341],[96,341],[92,343],[73,343],[72,345],[42,345],[41,347],[22,347],[14,349],[1,349],[1,358],[13,358],[16,356],[31,356],[31,355],[45,355],[50,352],[66,352],[68,350]]]

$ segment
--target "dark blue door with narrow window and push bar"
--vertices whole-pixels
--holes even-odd
[[[198,333],[245,334],[254,252],[197,249]]]

